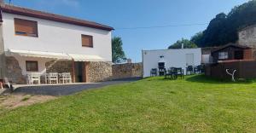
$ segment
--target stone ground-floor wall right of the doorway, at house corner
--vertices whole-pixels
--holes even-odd
[[[101,82],[110,80],[112,77],[112,62],[88,62],[88,82]]]

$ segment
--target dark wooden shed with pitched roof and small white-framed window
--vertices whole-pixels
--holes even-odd
[[[211,51],[212,61],[253,60],[252,48],[229,43]]]

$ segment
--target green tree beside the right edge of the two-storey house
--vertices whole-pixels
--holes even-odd
[[[112,38],[112,61],[113,63],[120,63],[125,61],[125,52],[123,50],[123,42],[119,37]]]

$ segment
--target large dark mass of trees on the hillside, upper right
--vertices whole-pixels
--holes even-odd
[[[256,0],[233,8],[229,14],[220,13],[212,19],[200,39],[191,41],[199,47],[211,47],[236,43],[237,32],[246,26],[256,24]]]

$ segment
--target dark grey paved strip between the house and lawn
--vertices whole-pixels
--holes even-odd
[[[71,95],[73,93],[101,88],[111,84],[124,84],[137,81],[140,78],[124,78],[113,81],[106,81],[95,84],[65,84],[65,85],[40,85],[40,86],[23,86],[15,89],[14,94],[26,95]]]

